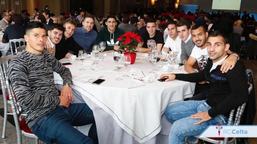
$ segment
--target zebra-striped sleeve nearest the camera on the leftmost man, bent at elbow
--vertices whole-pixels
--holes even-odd
[[[28,71],[27,63],[18,57],[13,58],[7,70],[7,76],[12,83],[13,90],[21,106],[37,106],[39,108],[58,106],[60,103],[58,96],[46,97],[31,90]]]

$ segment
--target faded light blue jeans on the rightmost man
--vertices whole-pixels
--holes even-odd
[[[178,102],[166,109],[166,119],[172,123],[169,144],[184,144],[187,136],[189,136],[188,141],[193,143],[197,140],[194,136],[200,135],[209,125],[227,125],[228,118],[224,115],[217,115],[207,122],[195,125],[200,119],[192,119],[191,115],[211,109],[205,101],[190,100]]]

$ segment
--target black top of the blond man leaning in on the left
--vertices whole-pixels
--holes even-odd
[[[65,36],[63,35],[61,41],[55,45],[55,58],[58,60],[64,58],[69,50],[73,51],[73,54],[78,56],[79,50],[84,49],[73,39],[73,37],[65,40]]]

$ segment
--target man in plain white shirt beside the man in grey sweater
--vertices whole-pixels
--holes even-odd
[[[163,46],[164,51],[175,51],[178,52],[177,57],[175,59],[175,63],[179,64],[181,62],[180,60],[180,54],[181,54],[181,39],[178,36],[178,31],[176,27],[177,22],[176,21],[169,21],[167,30],[168,30],[168,37],[166,39],[166,42]]]

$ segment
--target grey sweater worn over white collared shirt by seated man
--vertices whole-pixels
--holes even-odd
[[[194,47],[195,47],[195,43],[193,42],[192,38],[190,38],[187,41],[187,43],[185,43],[183,40],[181,41],[181,55],[180,55],[181,63],[183,63],[183,61],[189,58]]]

